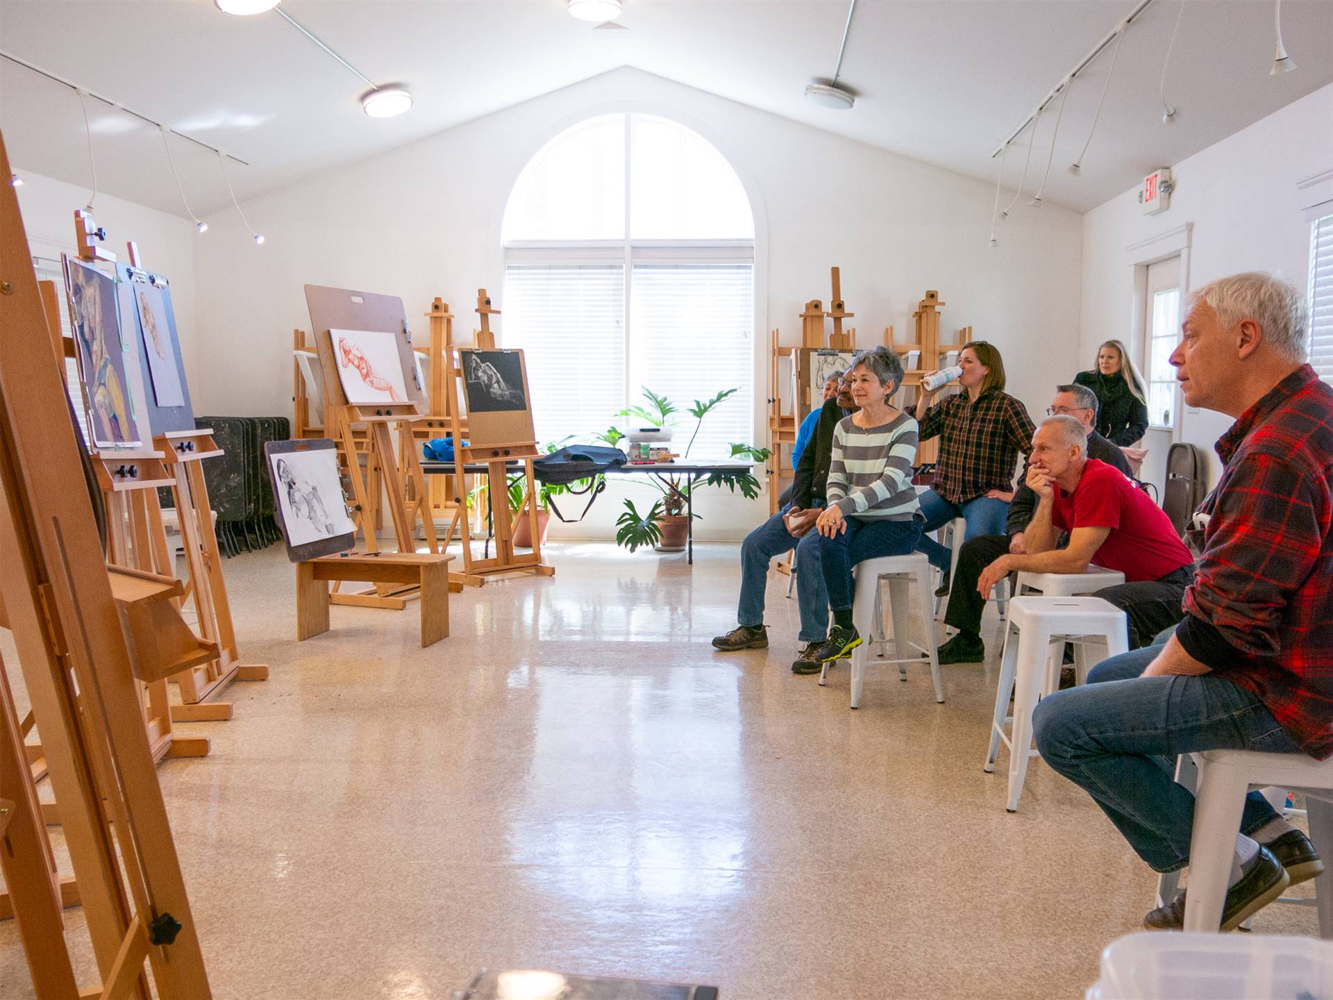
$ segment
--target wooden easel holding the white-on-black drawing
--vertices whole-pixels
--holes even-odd
[[[472,331],[472,348],[479,351],[499,349],[496,348],[495,332],[491,329],[491,317],[499,316],[500,309],[496,309],[492,305],[491,296],[487,295],[485,288],[477,289],[476,313],[481,328]],[[435,371],[435,364],[440,359],[441,355],[432,355],[432,372]],[[532,460],[541,452],[537,448],[536,435],[531,433],[532,395],[528,391],[527,373],[524,375],[523,387],[524,400],[528,401],[527,432],[516,435],[515,440],[492,439],[485,445],[471,445],[464,448],[461,447],[461,441],[471,440],[467,435],[480,429],[480,424],[484,423],[481,420],[483,415],[469,413],[467,416],[467,423],[464,423],[467,407],[461,356],[455,349],[447,349],[443,352],[443,359],[445,363],[443,369],[443,389],[449,397],[445,405],[447,412],[449,413],[451,433],[453,436],[455,469],[453,476],[451,476],[455,484],[455,512],[453,519],[449,521],[449,529],[445,533],[445,537],[453,537],[455,531],[460,532],[460,537],[463,540],[463,583],[479,587],[487,576],[493,576],[496,573],[527,572],[536,573],[537,576],[552,576],[556,572],[555,568],[541,561],[541,533],[537,531],[537,483],[532,469]],[[520,420],[516,423],[523,421]],[[521,475],[524,477],[525,488],[519,511],[516,513],[511,513],[509,475],[515,472],[515,463],[521,464]],[[468,475],[468,465],[487,467],[485,491],[491,508],[491,525],[495,533],[495,537],[489,540],[495,543],[493,556],[487,555],[479,559],[472,551],[472,536],[475,528],[468,524],[467,493],[463,492],[463,484],[465,483],[465,477]],[[528,527],[532,532],[532,551],[527,555],[519,555],[519,552],[515,551],[513,544],[515,525],[523,517],[528,519]]]

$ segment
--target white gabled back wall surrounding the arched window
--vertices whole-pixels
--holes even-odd
[[[427,333],[421,313],[443,296],[465,343],[479,287],[504,308],[500,224],[519,172],[565,127],[612,111],[694,128],[745,183],[757,220],[756,384],[768,379],[768,329],[798,343],[797,313],[808,299],[828,300],[833,264],[861,344],[877,341],[886,324],[900,336],[910,331],[917,301],[936,288],[946,303],[942,328],[972,324],[977,337],[996,341],[1009,357],[1010,389],[1034,412],[1052,383],[1073,375],[1077,213],[1020,211],[1004,224],[1001,248],[988,249],[988,184],[619,69],[256,199],[245,212],[264,247],[235,212],[211,216],[196,244],[197,336],[187,351],[196,408],[291,413],[288,351],[292,328],[309,328],[307,283],[401,296],[419,337]],[[499,329],[503,340],[503,317]],[[764,441],[766,395],[754,393],[756,443]],[[708,492],[701,539],[740,537],[768,509],[765,500]],[[609,493],[572,533],[608,533],[619,507]]]

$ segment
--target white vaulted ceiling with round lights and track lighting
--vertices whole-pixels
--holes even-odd
[[[844,0],[625,0],[624,31],[576,21],[564,0],[283,7],[377,83],[405,83],[415,107],[367,117],[365,84],[292,25],[211,0],[0,0],[0,49],[248,161],[231,165],[243,201],[621,65],[993,181],[996,145],[1134,3],[861,0],[841,77],[860,97],[846,112],[802,96],[833,72]],[[1166,76],[1180,113],[1164,125],[1158,84],[1180,12],[1181,0],[1154,0],[1126,31],[1078,177],[1065,168],[1092,125],[1106,55],[1076,80],[1044,200],[1086,211],[1333,81],[1333,0],[1285,0],[1298,69],[1276,77],[1270,0],[1185,0]],[[88,111],[101,189],[184,215],[156,129],[96,100]],[[1029,192],[1054,117],[1054,107],[1042,117]],[[69,89],[0,60],[0,128],[13,163],[88,184]],[[1030,135],[1009,152],[1006,187]],[[195,211],[221,208],[216,159],[179,139],[172,148]]]

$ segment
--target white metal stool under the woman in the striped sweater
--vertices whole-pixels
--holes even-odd
[[[934,621],[925,617],[930,607],[930,561],[924,552],[909,552],[905,556],[882,556],[857,563],[852,571],[856,576],[856,596],[852,599],[852,621],[861,633],[861,645],[852,651],[852,708],[861,705],[861,689],[865,687],[865,661],[872,644],[884,645],[884,604],[881,583],[889,587],[889,607],[893,615],[894,659],[876,657],[876,663],[898,665],[898,679],[908,679],[908,664],[929,664],[930,679],[934,681],[934,700],[944,701],[944,685],[940,683],[940,657],[936,652]],[[921,601],[925,645],[918,645],[908,637],[908,604],[912,585],[916,584]],[[913,656],[917,649],[920,655]],[[829,664],[820,672],[820,684],[829,676]]]

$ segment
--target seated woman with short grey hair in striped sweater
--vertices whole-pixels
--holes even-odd
[[[796,673],[814,673],[861,644],[852,621],[852,567],[906,555],[921,540],[924,519],[912,485],[917,423],[889,405],[901,384],[902,363],[888,348],[862,351],[852,361],[852,399],[861,409],[833,432],[828,505],[814,523],[833,628],[792,665]]]

